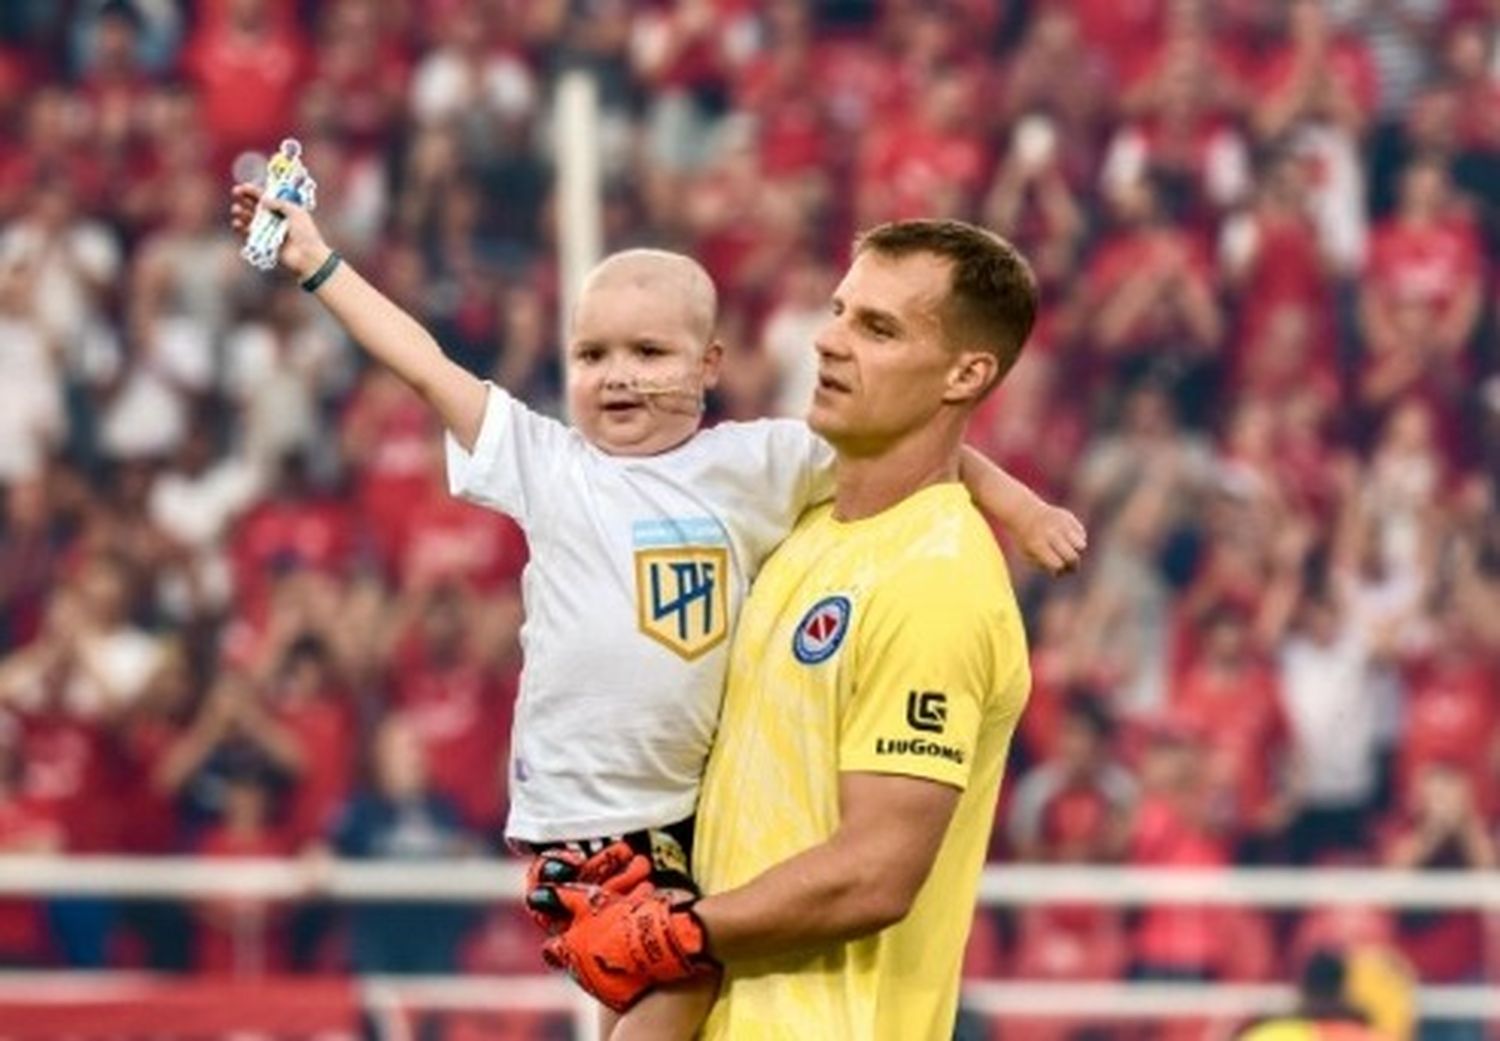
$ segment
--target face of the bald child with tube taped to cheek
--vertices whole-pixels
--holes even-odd
[[[718,381],[718,344],[690,309],[638,284],[590,286],[568,339],[573,423],[612,456],[652,456],[693,436],[704,392]]]

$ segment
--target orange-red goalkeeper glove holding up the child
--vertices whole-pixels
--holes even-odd
[[[597,885],[552,886],[572,924],[542,948],[554,969],[616,1012],[658,984],[714,970],[704,926],[681,892],[640,885],[616,896]]]

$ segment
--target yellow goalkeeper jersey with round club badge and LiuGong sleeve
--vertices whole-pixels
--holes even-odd
[[[910,914],[880,933],[728,966],[706,1041],[948,1041],[1026,638],[1005,560],[958,484],[873,518],[808,512],[740,615],[698,814],[705,892],[830,838],[838,776],[962,789]]]

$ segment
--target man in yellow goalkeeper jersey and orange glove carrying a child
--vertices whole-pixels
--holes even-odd
[[[808,422],[837,492],[746,602],[698,812],[704,896],[561,886],[549,958],[597,996],[714,964],[704,1038],[946,1041],[1000,774],[1030,676],[1004,556],[957,478],[1035,280],[952,220],[856,243]]]

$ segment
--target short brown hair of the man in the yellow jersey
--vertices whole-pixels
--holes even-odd
[[[855,252],[885,256],[933,254],[952,262],[944,327],[956,348],[999,358],[996,384],[1020,357],[1036,324],[1036,276],[1000,236],[963,220],[896,220],[855,238]]]

